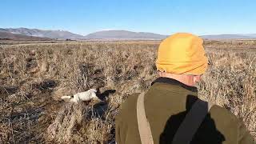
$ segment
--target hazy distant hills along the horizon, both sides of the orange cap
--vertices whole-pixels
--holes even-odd
[[[133,32],[128,30],[102,30],[95,33],[87,34],[83,36],[81,34],[74,34],[65,30],[38,30],[27,28],[0,28],[3,35],[6,34],[6,38],[20,38],[21,35],[14,37],[14,34],[22,34],[23,36],[39,37],[39,38],[53,38],[53,39],[95,39],[95,40],[162,40],[167,35],[146,33],[146,32]],[[32,36],[32,37],[31,37]],[[206,39],[255,39],[256,34],[215,34],[215,35],[202,35],[202,38]],[[25,37],[24,37],[25,38]],[[26,37],[29,38],[29,37]]]

